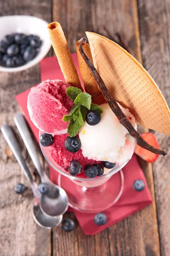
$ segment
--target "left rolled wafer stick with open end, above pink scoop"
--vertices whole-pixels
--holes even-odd
[[[71,86],[77,87],[83,91],[84,89],[80,82],[77,69],[74,66],[61,25],[58,22],[50,23],[48,25],[48,32],[65,81],[71,84]]]

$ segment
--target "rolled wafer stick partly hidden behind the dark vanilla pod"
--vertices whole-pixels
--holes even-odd
[[[88,56],[88,58],[93,63],[93,58],[91,55],[91,49],[89,44],[86,44],[83,42],[83,50],[85,54]],[[105,98],[102,94],[100,94],[99,87],[94,79],[94,76],[91,74],[87,64],[85,63],[84,59],[82,58],[81,53],[79,52],[79,41],[76,43],[76,51],[77,51],[77,57],[79,61],[79,71],[82,77],[82,81],[84,83],[85,91],[92,96],[92,101],[95,104],[102,104],[106,103]]]

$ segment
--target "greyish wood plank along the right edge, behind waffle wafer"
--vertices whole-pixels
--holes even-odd
[[[139,0],[139,24],[144,68],[161,89],[170,106],[170,1]],[[161,255],[170,253],[170,138],[155,132],[166,157],[153,164]]]

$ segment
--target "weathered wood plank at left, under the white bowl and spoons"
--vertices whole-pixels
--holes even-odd
[[[34,15],[51,21],[51,3],[35,0],[0,1],[0,16]],[[8,33],[8,31],[7,31]],[[14,96],[40,82],[40,67],[21,73],[0,73],[0,125],[7,123],[14,128],[23,148],[23,156],[37,180],[37,172],[17,133],[13,116],[20,112]],[[32,191],[24,174],[0,132],[0,255],[2,256],[50,256],[51,230],[40,228],[33,220]],[[40,155],[40,154],[39,154]],[[17,183],[28,189],[23,195],[14,192]]]

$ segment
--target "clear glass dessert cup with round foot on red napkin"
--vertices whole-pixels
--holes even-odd
[[[40,131],[41,134],[42,131]],[[47,162],[59,173],[56,173],[58,185],[67,193],[69,206],[72,208],[87,213],[102,212],[110,208],[121,197],[124,188],[122,168],[129,160],[121,166],[116,164],[113,169],[105,169],[102,176],[80,178],[59,168],[50,157],[48,147],[42,145],[40,147]]]

